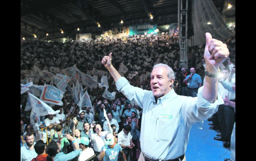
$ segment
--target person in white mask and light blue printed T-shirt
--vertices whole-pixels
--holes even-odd
[[[102,160],[104,157],[103,161],[117,161],[119,152],[123,154],[123,159],[126,161],[126,156],[122,150],[122,147],[120,144],[114,142],[114,135],[109,133],[106,136],[105,146],[101,148],[98,160]]]

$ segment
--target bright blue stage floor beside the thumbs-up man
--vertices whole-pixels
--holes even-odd
[[[209,121],[194,124],[190,131],[186,151],[187,161],[224,161],[230,158],[230,148],[223,147],[223,141],[214,140],[217,130],[210,130]]]

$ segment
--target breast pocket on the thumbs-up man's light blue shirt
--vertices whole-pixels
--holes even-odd
[[[168,119],[157,119],[155,139],[157,141],[171,141],[174,133],[173,121]]]

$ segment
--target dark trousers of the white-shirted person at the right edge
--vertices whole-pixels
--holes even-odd
[[[219,105],[218,120],[221,137],[230,141],[233,125],[235,122],[235,111],[230,106]]]

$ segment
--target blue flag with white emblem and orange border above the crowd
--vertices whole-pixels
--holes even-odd
[[[44,101],[45,103],[62,106],[63,102],[61,100],[63,98],[63,94],[64,92],[60,89],[45,84],[40,100]]]

